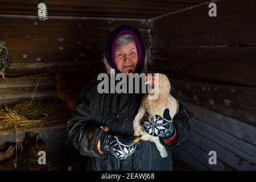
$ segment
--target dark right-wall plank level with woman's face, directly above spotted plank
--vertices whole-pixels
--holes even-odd
[[[256,48],[151,48],[148,69],[188,76],[256,85]]]

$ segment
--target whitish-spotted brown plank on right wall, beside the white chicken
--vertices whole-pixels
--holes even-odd
[[[256,126],[255,87],[176,79],[171,82],[183,101]]]

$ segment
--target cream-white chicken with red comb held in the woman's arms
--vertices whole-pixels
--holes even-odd
[[[160,143],[159,137],[154,137],[146,133],[144,128],[141,126],[141,122],[144,121],[145,114],[147,115],[147,117],[150,118],[158,117],[160,119],[166,119],[167,121],[172,122],[172,118],[174,118],[174,115],[179,110],[179,103],[170,94],[171,84],[166,75],[162,73],[155,73],[152,76],[147,76],[145,84],[150,84],[152,90],[150,90],[150,93],[147,92],[146,94],[144,94],[138,114],[134,118],[134,136],[141,135],[141,137],[138,139],[154,142],[160,152],[161,157],[166,158],[167,151],[163,144]],[[158,97],[152,99],[153,94],[156,94]],[[166,131],[166,129],[163,129],[161,127],[155,130],[158,130],[154,131],[158,133],[163,133]]]

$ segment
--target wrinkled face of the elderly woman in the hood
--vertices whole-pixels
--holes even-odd
[[[130,42],[122,48],[115,49],[115,63],[121,73],[128,75],[130,71],[134,72],[137,62],[138,54],[134,42]]]

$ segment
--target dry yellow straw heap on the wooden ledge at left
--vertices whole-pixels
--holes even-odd
[[[65,124],[72,117],[61,100],[23,101],[0,106],[0,131],[38,131],[42,127]]]

